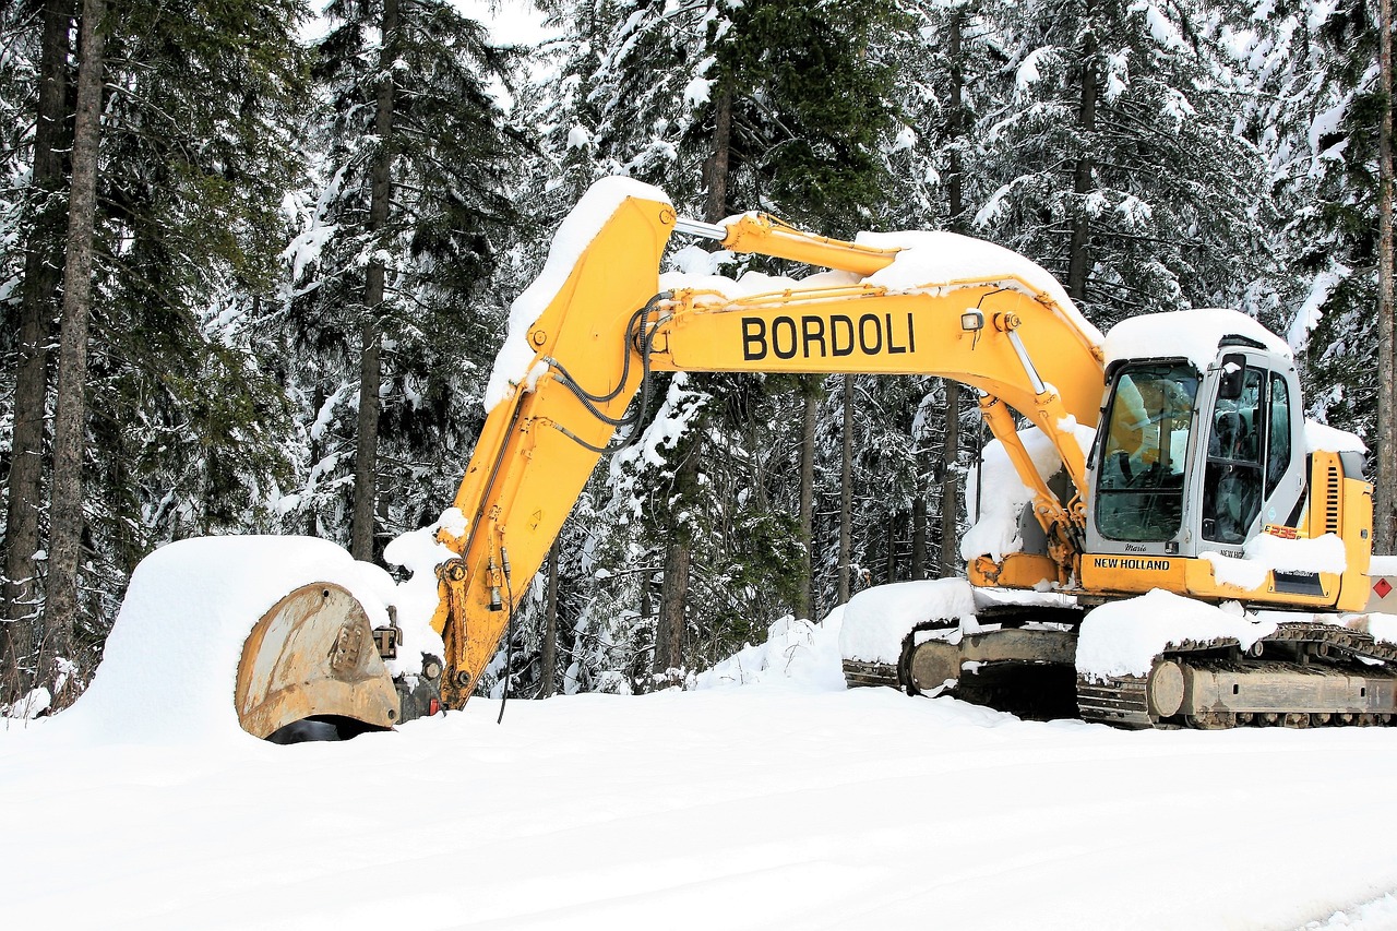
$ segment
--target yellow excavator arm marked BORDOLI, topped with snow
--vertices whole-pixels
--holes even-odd
[[[676,228],[735,252],[851,273],[851,282],[736,299],[701,288],[661,292],[661,257]],[[1048,534],[1049,558],[1035,558],[1030,575],[1074,576],[1087,479],[1073,426],[1097,422],[1101,337],[1044,285],[1046,273],[1025,271],[1007,250],[943,236],[880,249],[761,215],[697,224],[679,219],[657,189],[626,179],[594,186],[514,309],[513,344],[499,363],[514,368],[496,372],[503,390],[490,398],[454,502],[464,521],[437,535],[457,554],[437,569],[433,618],[446,643],[446,705],[469,698],[608,442],[645,410],[627,415],[655,370],[933,375],[970,384]],[[979,252],[961,266],[944,254],[957,247]],[[1004,264],[995,267],[1000,253]],[[923,266],[972,273],[919,277]],[[1006,405],[1052,440],[1077,489],[1069,502],[1039,477]],[[978,575],[997,572],[981,565]]]

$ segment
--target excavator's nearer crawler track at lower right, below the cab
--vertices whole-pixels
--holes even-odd
[[[1077,678],[1083,720],[1122,728],[1225,730],[1397,724],[1397,644],[1329,623],[1285,622],[1249,650],[1185,642],[1148,675]]]

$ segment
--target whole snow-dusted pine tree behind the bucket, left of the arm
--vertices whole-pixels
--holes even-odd
[[[387,3],[327,8],[316,185],[295,199],[282,329],[302,422],[285,526],[348,542],[349,464],[365,447],[376,551],[450,500],[483,422],[503,335],[485,288],[513,238],[524,151],[492,91],[517,56],[448,3]]]

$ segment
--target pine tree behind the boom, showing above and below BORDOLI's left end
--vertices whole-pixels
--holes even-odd
[[[557,82],[566,106],[549,113],[548,127],[569,176],[629,173],[711,219],[761,207],[847,233],[877,215],[884,185],[876,141],[891,137],[890,70],[868,49],[890,7],[584,3],[567,13],[574,28]],[[610,513],[644,500],[647,526],[634,535],[633,524],[617,523],[633,542],[599,548],[650,566],[659,548],[668,554],[659,601],[671,621],[657,670],[676,664],[680,639],[700,653],[721,650],[747,635],[733,618],[789,609],[800,562],[793,519],[803,400],[793,382],[704,376],[676,386],[711,400],[685,408],[696,426],[671,438],[665,466],[629,475],[627,492],[613,498],[622,505]],[[650,573],[604,569],[608,582],[630,586],[637,623],[648,629],[645,615],[658,607]],[[704,597],[686,605],[679,598],[690,587]]]

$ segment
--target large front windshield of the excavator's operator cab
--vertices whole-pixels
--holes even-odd
[[[1190,365],[1143,365],[1116,376],[1097,470],[1097,528],[1108,540],[1162,542],[1182,528],[1197,393]]]

